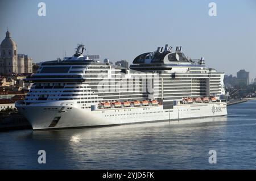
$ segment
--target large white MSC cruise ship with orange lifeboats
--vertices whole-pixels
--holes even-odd
[[[61,129],[225,116],[224,73],[188,58],[182,47],[158,47],[129,69],[83,55],[43,62],[16,108],[33,129]]]

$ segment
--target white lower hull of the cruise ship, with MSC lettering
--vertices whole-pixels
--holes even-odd
[[[179,104],[168,110],[164,110],[163,106],[159,105],[106,108],[94,111],[81,109],[70,101],[38,103],[32,106],[24,106],[21,103],[18,101],[15,106],[30,121],[33,129],[97,127],[227,114],[226,102]]]

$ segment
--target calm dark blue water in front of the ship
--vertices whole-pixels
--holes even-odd
[[[0,169],[256,169],[256,100],[207,119],[0,133]],[[217,163],[209,164],[209,150]],[[46,150],[46,164],[38,163]]]

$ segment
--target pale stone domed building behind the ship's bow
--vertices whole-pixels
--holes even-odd
[[[32,73],[32,59],[17,53],[17,45],[7,30],[6,37],[0,45],[0,74]]]

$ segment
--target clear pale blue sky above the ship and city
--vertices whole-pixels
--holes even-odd
[[[38,3],[46,16],[38,15]],[[217,16],[209,16],[209,3]],[[72,56],[78,43],[101,60],[127,60],[165,44],[183,46],[209,68],[256,77],[256,1],[1,0],[0,41],[9,28],[18,53],[34,62]]]

